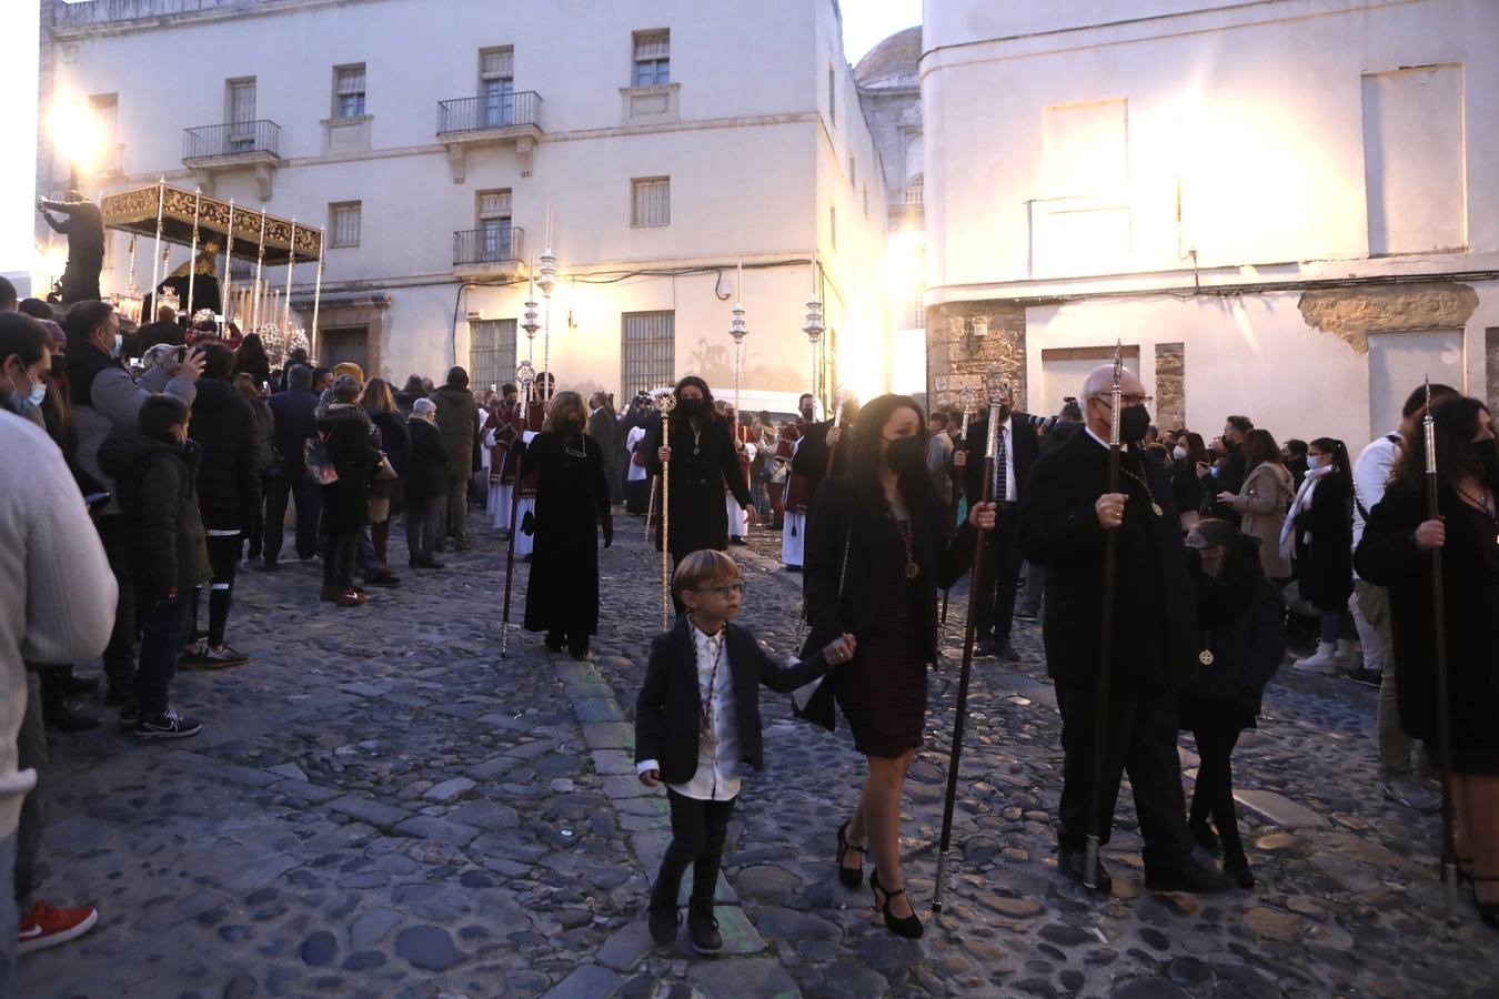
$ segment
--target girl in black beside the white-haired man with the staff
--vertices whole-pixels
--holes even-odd
[[[1265,684],[1286,655],[1285,607],[1259,563],[1256,538],[1210,517],[1187,533],[1187,572],[1196,590],[1196,662],[1187,668],[1178,710],[1198,743],[1198,780],[1187,825],[1243,888],[1255,884],[1238,837],[1231,756],[1238,734],[1255,728]],[[1208,828],[1208,819],[1217,834]]]

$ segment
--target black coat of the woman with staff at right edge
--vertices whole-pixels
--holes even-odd
[[[1493,524],[1453,490],[1438,493],[1438,512],[1447,521],[1442,596],[1453,759],[1460,773],[1471,773],[1481,767],[1466,767],[1465,755],[1484,753],[1490,765],[1499,756],[1499,544]],[[1415,545],[1415,529],[1424,520],[1424,490],[1391,487],[1369,512],[1355,565],[1358,578],[1390,587],[1400,726],[1415,738],[1435,744],[1438,684],[1432,554]]]

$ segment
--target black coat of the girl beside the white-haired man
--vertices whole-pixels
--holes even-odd
[[[1264,467],[1264,466],[1261,466]],[[1181,728],[1195,731],[1220,719],[1253,728],[1265,684],[1286,655],[1285,607],[1280,590],[1259,568],[1252,538],[1243,538],[1237,565],[1228,575],[1208,578],[1192,571],[1198,596],[1198,649],[1181,689]]]

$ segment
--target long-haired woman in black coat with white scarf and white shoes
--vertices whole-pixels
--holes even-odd
[[[1342,440],[1307,445],[1307,478],[1280,530],[1280,554],[1295,559],[1301,599],[1322,613],[1316,653],[1298,659],[1301,672],[1352,672],[1354,614],[1354,466]]]

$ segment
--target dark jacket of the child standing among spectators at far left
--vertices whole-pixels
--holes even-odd
[[[190,593],[211,575],[198,514],[199,457],[192,440],[177,448],[129,427],[115,427],[99,448],[99,463],[130,526],[130,580],[147,607],[172,589]]]

